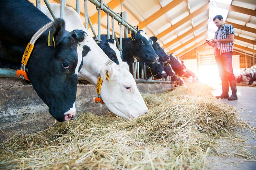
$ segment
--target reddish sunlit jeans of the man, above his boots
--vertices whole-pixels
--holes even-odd
[[[232,67],[232,54],[233,52],[227,52],[220,54],[220,51],[216,51],[216,62],[220,74],[220,78],[223,81],[235,80]]]

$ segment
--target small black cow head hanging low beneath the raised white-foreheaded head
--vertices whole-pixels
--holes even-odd
[[[162,79],[167,77],[167,74],[164,71],[163,62],[156,62],[153,64],[146,64],[146,65],[147,65],[147,78],[151,76],[154,77],[155,79]]]

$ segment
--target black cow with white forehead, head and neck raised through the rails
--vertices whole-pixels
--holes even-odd
[[[112,38],[111,35],[110,38]],[[106,42],[107,36],[101,35],[101,40]],[[118,41],[120,41],[119,38]],[[148,38],[143,30],[139,30],[137,34],[132,31],[130,38],[122,39],[122,44],[123,61],[126,61],[128,65],[136,62],[136,60],[142,63],[155,63],[159,59],[152,47],[152,40]]]

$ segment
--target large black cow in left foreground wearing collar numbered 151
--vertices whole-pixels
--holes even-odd
[[[0,67],[19,69],[32,36],[51,20],[27,0],[0,1]],[[48,32],[51,40],[47,44]],[[55,47],[54,47],[54,42]],[[85,38],[82,30],[65,30],[65,22],[55,19],[35,42],[26,65],[27,75],[38,96],[59,122],[75,115],[77,80],[82,59],[77,45]],[[80,61],[78,63],[78,61]]]

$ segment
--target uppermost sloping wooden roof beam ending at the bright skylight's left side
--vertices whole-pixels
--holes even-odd
[[[169,32],[173,31],[174,29],[178,28],[179,26],[183,25],[184,23],[188,22],[189,20],[191,20],[192,18],[194,18],[195,16],[197,16],[198,14],[208,10],[210,8],[210,2],[208,2],[207,4],[203,5],[201,8],[199,8],[198,10],[196,10],[195,12],[189,14],[187,17],[183,18],[182,20],[180,20],[179,22],[177,22],[176,24],[172,25],[171,27],[167,28],[166,30],[164,30],[163,32],[161,32],[160,34],[158,34],[156,37],[158,39],[162,38],[163,36],[165,36],[166,34],[168,34]]]

